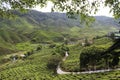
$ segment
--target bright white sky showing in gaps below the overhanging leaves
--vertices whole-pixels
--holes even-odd
[[[51,7],[52,6],[53,6],[53,4],[51,2],[48,2],[48,5],[45,8],[40,8],[39,6],[37,6],[34,9],[38,10],[38,11],[41,11],[41,12],[51,12]],[[112,13],[109,13],[109,11],[110,11],[109,7],[101,6],[99,8],[99,11],[96,14],[93,14],[93,16],[109,16],[109,17],[112,17]]]

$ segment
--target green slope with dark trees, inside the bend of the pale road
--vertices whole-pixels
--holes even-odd
[[[82,47],[80,43],[76,46],[70,46],[70,54],[67,60],[61,64],[62,69],[65,71],[79,72],[120,66],[120,64],[117,63],[120,57],[118,54],[119,50],[118,52],[105,53],[113,44],[110,38],[103,37],[94,39],[93,42],[93,44],[84,47]]]

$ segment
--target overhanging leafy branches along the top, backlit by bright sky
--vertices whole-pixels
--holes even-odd
[[[10,10],[25,11],[36,5],[45,7],[47,1],[51,1],[54,6],[52,11],[67,11],[68,16],[74,17],[76,14],[81,18],[96,13],[101,4],[109,6],[115,18],[120,17],[120,0],[0,0],[0,17],[10,16]]]

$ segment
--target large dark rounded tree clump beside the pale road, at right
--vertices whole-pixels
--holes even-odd
[[[80,55],[80,69],[81,70],[96,70],[101,66],[98,66],[102,60],[103,48],[97,48],[95,46],[85,47]]]

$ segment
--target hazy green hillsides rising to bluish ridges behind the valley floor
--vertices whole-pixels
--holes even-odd
[[[0,18],[1,49],[14,50],[9,46],[24,41],[63,41],[64,34],[69,38],[101,35],[120,27],[117,20],[105,16],[95,16],[96,21],[92,26],[84,28],[79,20],[70,19],[65,13],[43,13],[34,10],[13,13],[18,17],[12,20]]]

